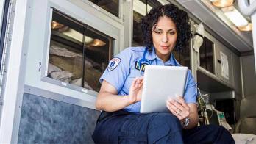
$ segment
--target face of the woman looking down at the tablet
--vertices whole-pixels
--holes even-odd
[[[153,26],[152,40],[157,56],[166,62],[177,41],[177,27],[174,21],[166,16],[160,17],[155,29]]]

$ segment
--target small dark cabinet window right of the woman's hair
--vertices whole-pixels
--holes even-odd
[[[204,42],[199,49],[200,66],[205,70],[213,71],[213,42],[204,37]]]

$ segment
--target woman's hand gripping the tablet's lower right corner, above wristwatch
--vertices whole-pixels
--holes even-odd
[[[181,96],[178,96],[177,100],[169,98],[166,101],[166,107],[181,121],[185,120],[191,114],[190,107],[188,107],[188,104],[185,103],[185,100]]]

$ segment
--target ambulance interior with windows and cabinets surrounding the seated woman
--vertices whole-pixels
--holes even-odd
[[[19,6],[26,10],[23,15],[7,12],[7,20],[13,25],[2,25],[5,29],[1,30],[1,37],[8,37],[4,32],[18,29],[15,21],[24,24],[20,47],[25,56],[21,54],[24,68],[18,71],[24,79],[18,82],[21,89],[17,89],[15,103],[21,107],[12,108],[12,121],[16,124],[3,127],[9,120],[3,116],[7,115],[5,100],[13,93],[4,89],[0,96],[1,132],[12,129],[10,140],[15,143],[55,142],[49,140],[60,137],[67,138],[59,142],[93,143],[91,134],[100,113],[94,106],[101,86],[99,77],[115,54],[129,46],[143,46],[141,18],[146,12],[160,4],[173,3],[187,10],[191,18],[191,43],[186,51],[174,51],[174,55],[180,64],[191,69],[196,79],[199,124],[218,124],[227,128],[236,142],[256,143],[256,37],[253,39],[252,29],[256,21],[253,12],[243,13],[238,0],[223,1],[1,2],[3,10]],[[3,15],[5,12],[2,18]],[[4,45],[4,40],[1,38],[2,51],[11,48]],[[1,79],[8,84],[15,78]]]

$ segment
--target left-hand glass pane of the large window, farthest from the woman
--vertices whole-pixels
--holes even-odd
[[[82,77],[82,24],[75,23],[59,12],[53,12],[49,49],[48,76],[66,83]]]

